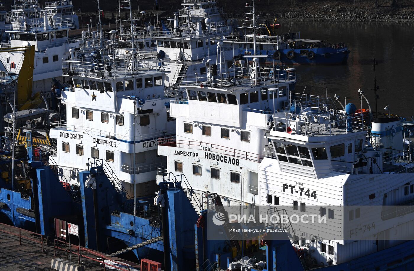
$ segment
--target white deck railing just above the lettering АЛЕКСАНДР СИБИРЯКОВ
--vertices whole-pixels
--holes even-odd
[[[67,124],[66,120],[63,121],[52,121],[51,122],[51,129],[53,130],[66,130],[66,131],[75,131],[75,132],[81,132],[81,133],[88,133],[91,135],[99,135],[106,138],[111,138],[113,140],[120,140],[120,141],[127,141],[128,143],[132,143],[132,140],[134,137],[132,136],[126,136],[118,133],[111,133],[109,131],[103,131],[96,128],[90,128],[85,126],[79,126],[79,125],[71,125]],[[147,133],[142,135],[136,135],[135,136],[135,143],[137,141],[147,141],[147,140],[156,140],[160,137],[167,137],[168,135],[175,134],[176,129],[170,129],[166,131],[159,131],[155,133]],[[132,133],[132,132],[131,132]]]

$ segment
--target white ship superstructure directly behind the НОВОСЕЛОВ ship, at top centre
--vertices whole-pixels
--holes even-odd
[[[222,43],[231,28],[223,21],[216,3],[186,0],[182,5],[184,9],[174,13],[170,33],[153,38],[157,50],[164,51],[170,61],[165,84],[173,90],[178,90],[189,77],[207,78],[205,62],[215,60],[217,55],[227,71],[234,70],[233,50],[224,49]]]

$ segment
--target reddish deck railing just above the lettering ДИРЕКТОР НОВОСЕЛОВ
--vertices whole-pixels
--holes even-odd
[[[204,143],[200,141],[190,141],[190,140],[177,140],[175,138],[159,138],[158,140],[159,146],[168,146],[168,147],[179,147],[185,149],[193,149],[193,150],[205,150],[208,152],[216,152],[221,155],[228,155],[233,156],[236,158],[246,159],[253,162],[260,162],[262,161],[265,155],[256,154],[253,152],[247,152],[243,150],[237,150],[230,147],[225,147],[221,145],[211,144],[211,143]],[[216,159],[220,159],[221,162],[223,160],[231,159],[231,157],[223,157],[220,156]]]

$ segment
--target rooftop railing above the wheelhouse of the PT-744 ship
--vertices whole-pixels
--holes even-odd
[[[289,127],[291,122],[296,122],[296,128],[293,133],[304,136],[330,136],[340,133],[350,133],[352,131],[366,131],[366,129],[359,125],[352,125],[352,129],[348,131],[348,126],[351,124],[359,124],[363,119],[363,114],[354,114],[353,116],[345,117],[344,119],[331,120],[331,116],[334,116],[334,109],[329,109],[324,112],[320,107],[308,107],[310,110],[309,115],[281,113],[273,114],[273,121],[276,125],[273,126],[273,131],[281,130],[280,126]],[[314,119],[319,122],[314,122]],[[320,121],[320,120],[325,121]],[[351,122],[351,123],[349,123]],[[285,128],[283,128],[285,130]]]

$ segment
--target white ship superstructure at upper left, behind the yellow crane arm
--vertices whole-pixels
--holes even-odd
[[[64,81],[62,60],[69,59],[72,50],[79,50],[79,42],[68,40],[68,32],[73,27],[71,19],[53,17],[52,23],[44,23],[47,13],[35,11],[36,19],[12,22],[6,25],[6,33],[10,40],[1,43],[1,48],[35,46],[33,93],[43,91],[50,97],[51,81]],[[0,53],[1,67],[8,74],[19,74],[23,61],[23,53]]]

